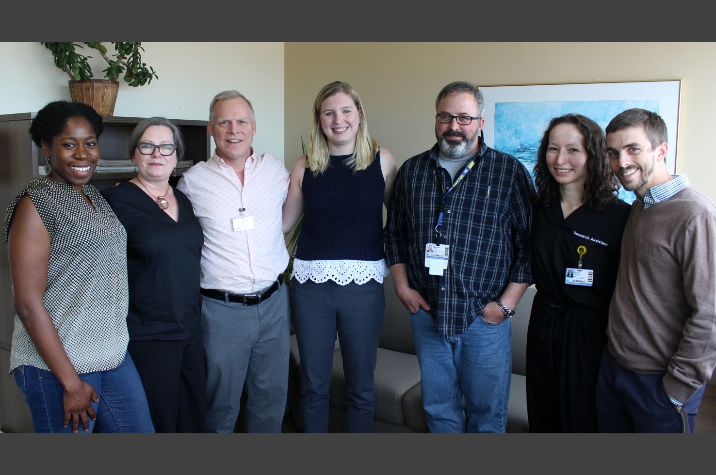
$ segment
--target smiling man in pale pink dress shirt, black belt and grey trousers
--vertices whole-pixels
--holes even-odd
[[[208,432],[233,432],[246,388],[248,432],[281,432],[289,373],[289,262],[281,207],[289,171],[251,147],[256,117],[237,91],[209,107],[216,151],[184,173],[178,188],[204,232],[201,329]]]

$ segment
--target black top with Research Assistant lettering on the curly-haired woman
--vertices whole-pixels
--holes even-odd
[[[563,217],[559,200],[535,205],[532,215],[532,275],[543,297],[569,308],[609,312],[621,255],[621,234],[631,205],[618,200],[604,210],[587,205]],[[586,247],[582,268],[594,270],[591,287],[564,283],[567,268],[579,263],[577,248]]]

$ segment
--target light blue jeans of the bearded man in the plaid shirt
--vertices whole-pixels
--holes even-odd
[[[430,432],[504,432],[512,377],[510,320],[494,325],[480,317],[465,333],[441,335],[421,308],[410,314],[410,323]]]

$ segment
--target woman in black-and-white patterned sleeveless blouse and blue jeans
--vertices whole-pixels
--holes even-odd
[[[43,107],[30,125],[49,172],[5,217],[17,315],[10,372],[35,432],[154,432],[127,353],[127,233],[87,185],[102,117],[79,102]]]

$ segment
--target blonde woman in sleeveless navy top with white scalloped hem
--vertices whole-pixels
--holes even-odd
[[[373,373],[383,325],[383,205],[397,167],[368,134],[362,102],[347,82],[314,102],[311,138],[291,172],[284,232],[304,215],[292,278],[291,315],[301,354],[304,431],[328,430],[338,334],[347,383],[347,430],[371,432]]]

